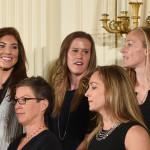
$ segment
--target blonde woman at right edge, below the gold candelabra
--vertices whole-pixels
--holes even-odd
[[[128,68],[138,104],[150,132],[150,28],[139,27],[131,31],[121,53],[123,66]]]

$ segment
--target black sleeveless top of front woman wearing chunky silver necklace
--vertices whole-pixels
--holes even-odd
[[[124,144],[125,136],[128,130],[134,125],[140,124],[137,122],[122,123],[109,136],[101,141],[96,140],[96,136],[94,136],[88,150],[126,150]]]

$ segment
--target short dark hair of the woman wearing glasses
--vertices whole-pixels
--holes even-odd
[[[33,90],[35,97],[47,99],[49,102],[49,106],[46,110],[49,109],[54,99],[54,93],[53,93],[53,89],[44,80],[44,78],[40,76],[37,77],[32,76],[30,78],[26,78],[17,84],[16,89],[22,86],[29,86]]]

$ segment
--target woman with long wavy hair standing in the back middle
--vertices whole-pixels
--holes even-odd
[[[59,137],[64,150],[83,150],[90,120],[84,94],[96,67],[91,35],[82,31],[69,34],[61,45],[56,65],[50,129]]]

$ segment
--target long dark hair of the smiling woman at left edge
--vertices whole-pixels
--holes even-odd
[[[13,71],[9,77],[8,86],[2,96],[2,99],[5,96],[5,93],[8,88],[10,89],[10,95],[9,95],[10,98],[14,98],[15,96],[14,89],[15,89],[16,84],[20,82],[22,79],[27,77],[26,65],[25,65],[25,63],[27,62],[27,59],[26,59],[25,49],[24,49],[22,40],[20,38],[19,32],[13,27],[0,28],[0,38],[6,35],[12,35],[17,40],[19,55],[18,55],[18,61],[14,65]]]

